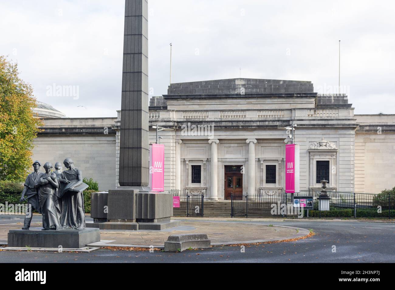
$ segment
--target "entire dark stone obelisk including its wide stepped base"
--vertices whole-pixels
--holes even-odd
[[[171,221],[173,196],[149,187],[148,2],[125,1],[119,187],[92,194],[94,223],[117,230],[161,230]],[[107,213],[103,208],[107,206]]]

